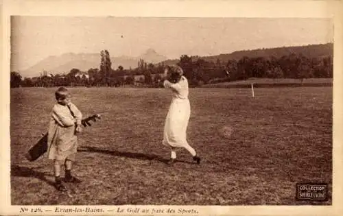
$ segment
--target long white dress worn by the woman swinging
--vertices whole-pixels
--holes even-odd
[[[182,76],[181,80],[173,84],[167,80],[163,83],[165,88],[173,91],[173,99],[169,107],[165,128],[163,132],[163,145],[171,147],[187,147],[187,125],[191,115],[191,106],[188,99],[188,81]]]

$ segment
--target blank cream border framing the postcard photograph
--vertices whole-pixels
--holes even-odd
[[[0,1],[1,3],[1,1]],[[332,206],[187,206],[199,215],[340,215],[343,213],[342,1],[106,1],[3,0],[1,43],[0,215],[20,215],[10,206],[10,16],[309,17],[334,18],[333,204]],[[62,206],[61,206],[62,207]],[[70,207],[70,206],[68,206]],[[82,208],[82,206],[78,206]],[[104,209],[114,206],[99,206]],[[143,206],[144,207],[144,206]],[[146,206],[145,206],[146,207]],[[160,206],[161,207],[161,206]],[[171,206],[177,208],[177,206]],[[47,208],[47,206],[44,206]],[[54,206],[50,206],[54,209]],[[113,215],[108,214],[107,215]],[[126,214],[128,215],[128,214]],[[134,215],[134,214],[131,214]]]

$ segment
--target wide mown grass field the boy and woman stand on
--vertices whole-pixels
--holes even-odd
[[[332,88],[191,88],[189,143],[165,164],[161,145],[171,93],[161,88],[71,88],[84,116],[106,111],[85,128],[73,197],[53,187],[53,163],[24,154],[46,132],[55,88],[11,89],[12,204],[35,205],[306,205],[297,182],[332,184]],[[224,126],[233,128],[226,139]]]

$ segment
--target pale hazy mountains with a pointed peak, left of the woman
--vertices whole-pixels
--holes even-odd
[[[139,59],[145,62],[156,64],[167,58],[156,53],[154,49],[147,49],[145,53],[137,57],[131,56],[111,56],[112,68],[117,69],[121,65],[124,69],[137,67]],[[69,73],[73,68],[80,71],[88,71],[91,68],[99,68],[100,53],[64,53],[61,56],[49,56],[44,60],[34,64],[34,66],[21,71],[23,77],[34,77],[40,75],[41,72],[48,73]]]

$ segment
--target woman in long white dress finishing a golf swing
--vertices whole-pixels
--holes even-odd
[[[200,157],[187,142],[187,125],[191,114],[191,106],[188,99],[188,81],[183,76],[180,67],[167,67],[165,69],[163,82],[165,88],[169,88],[173,93],[173,99],[169,107],[163,136],[163,145],[171,147],[171,157],[169,165],[176,162],[176,148],[184,147],[193,156],[193,160],[200,164]]]

